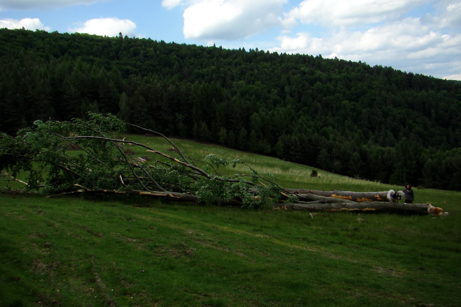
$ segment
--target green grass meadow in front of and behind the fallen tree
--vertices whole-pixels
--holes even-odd
[[[312,178],[310,167],[174,141],[196,159],[208,153],[242,159],[285,187],[400,188],[321,170]],[[245,171],[238,167],[219,171]],[[3,193],[0,306],[459,306],[461,193],[415,194],[416,202],[450,215],[311,217],[143,198]]]

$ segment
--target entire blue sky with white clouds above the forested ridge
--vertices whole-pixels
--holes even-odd
[[[321,54],[461,80],[461,0],[0,0],[0,28]]]

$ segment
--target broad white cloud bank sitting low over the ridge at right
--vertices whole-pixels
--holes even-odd
[[[300,32],[295,37],[285,35],[278,39],[280,47],[271,51],[322,54],[432,75],[429,71],[461,70],[460,64],[453,62],[460,55],[461,34],[442,34],[423,24],[420,18],[405,18],[368,31],[341,29],[322,38]]]

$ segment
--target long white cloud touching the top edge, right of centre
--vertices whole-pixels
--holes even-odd
[[[303,24],[323,26],[350,26],[379,23],[396,19],[428,0],[304,0],[285,15],[299,19]]]

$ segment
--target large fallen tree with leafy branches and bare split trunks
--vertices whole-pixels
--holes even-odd
[[[218,172],[219,166],[235,167],[244,163],[239,159],[226,161],[215,155],[208,155],[203,161],[194,160],[164,135],[131,125],[162,137],[171,145],[172,153],[165,153],[118,137],[127,124],[115,116],[90,113],[89,118],[69,122],[36,121],[33,127],[20,130],[17,137],[3,134],[0,170],[8,170],[14,179],[20,171],[28,171],[27,183],[24,182],[27,189],[40,190],[48,197],[99,193],[248,208],[274,206],[424,214],[421,204],[386,202],[386,192],[283,188],[270,175],[260,176],[248,165],[245,174],[223,176]],[[135,155],[132,148],[142,149],[145,156]]]

